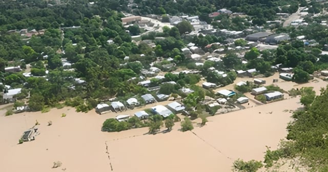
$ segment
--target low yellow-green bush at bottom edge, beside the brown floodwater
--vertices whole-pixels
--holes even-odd
[[[233,164],[234,171],[242,172],[256,172],[262,166],[263,164],[260,161],[255,160],[244,162],[243,160],[238,159]]]

